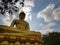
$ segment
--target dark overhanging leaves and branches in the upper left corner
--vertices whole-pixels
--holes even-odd
[[[13,14],[13,11],[17,12],[19,8],[16,6],[16,3],[19,0],[0,0],[0,14],[4,15],[6,12]],[[24,0],[20,2],[22,7],[24,6]]]

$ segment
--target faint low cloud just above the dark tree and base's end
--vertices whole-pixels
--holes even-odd
[[[52,27],[54,27],[55,25],[56,23],[50,22],[48,24],[43,25],[41,30],[32,30],[32,31],[37,31],[37,32],[41,32],[42,34],[46,34],[46,33],[54,31],[54,28]]]

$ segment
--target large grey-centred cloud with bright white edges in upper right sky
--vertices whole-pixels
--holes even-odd
[[[45,9],[40,11],[37,18],[43,17],[46,22],[60,20],[60,8],[55,9],[55,4],[49,4]]]

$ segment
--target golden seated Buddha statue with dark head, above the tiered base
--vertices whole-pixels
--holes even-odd
[[[26,31],[30,30],[28,22],[26,22],[24,19],[25,19],[25,13],[21,12],[19,14],[19,20],[18,19],[13,20],[10,26],[14,27],[14,25],[16,25],[16,28],[19,30],[26,30]]]

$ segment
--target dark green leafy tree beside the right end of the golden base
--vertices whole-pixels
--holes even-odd
[[[60,45],[60,32],[52,32],[42,37],[42,45]]]

